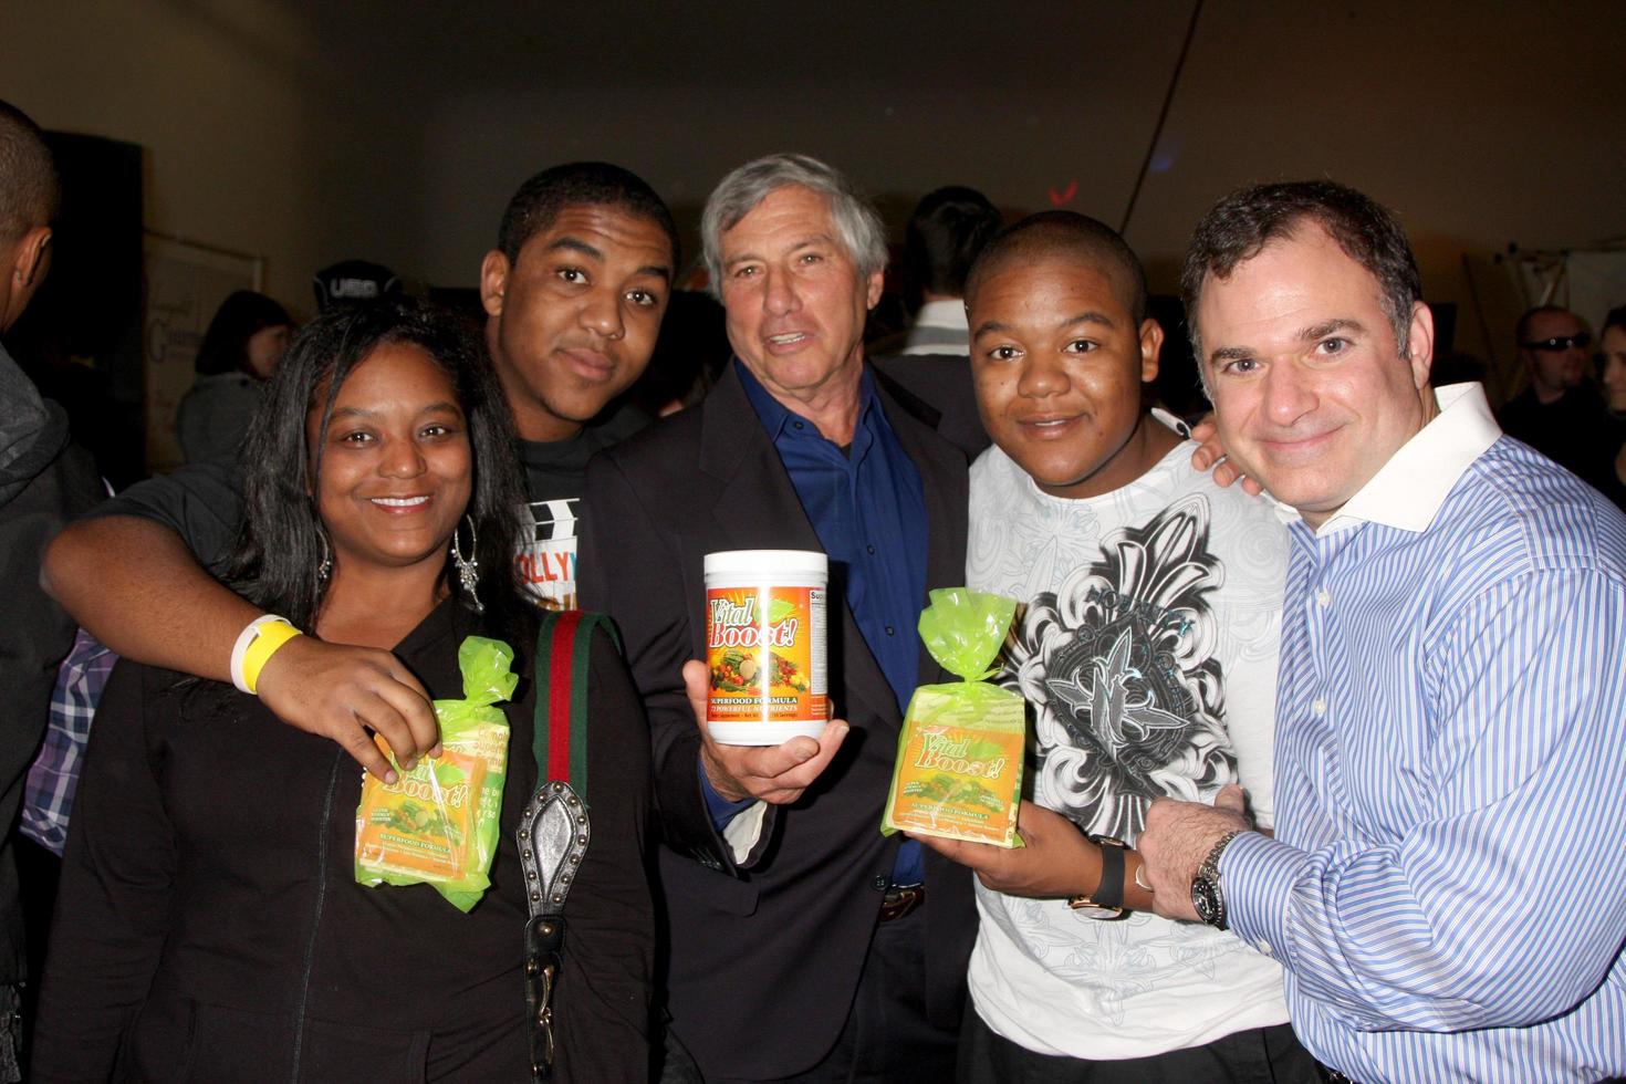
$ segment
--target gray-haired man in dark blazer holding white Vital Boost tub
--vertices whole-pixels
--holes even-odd
[[[665,1076],[948,1079],[971,881],[878,827],[902,709],[945,679],[915,619],[964,580],[966,455],[863,356],[886,245],[839,172],[748,163],[702,241],[735,358],[698,410],[593,460],[582,536],[584,605],[621,624],[650,715]],[[719,744],[699,709],[702,559],[753,548],[829,554],[841,718],[816,741]]]

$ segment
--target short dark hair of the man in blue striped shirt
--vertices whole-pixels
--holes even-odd
[[[1228,278],[1239,263],[1252,260],[1272,241],[1291,237],[1302,223],[1315,223],[1327,231],[1346,257],[1377,280],[1384,315],[1395,332],[1400,353],[1406,353],[1411,332],[1411,307],[1423,299],[1411,244],[1400,221],[1380,203],[1333,180],[1289,180],[1262,184],[1223,197],[1197,223],[1180,293],[1185,301],[1185,327],[1192,346],[1197,341],[1197,299],[1210,275]]]

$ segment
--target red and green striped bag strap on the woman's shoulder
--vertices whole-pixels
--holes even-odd
[[[615,626],[605,614],[580,609],[543,611],[537,629],[537,717],[532,736],[537,783],[567,782],[582,801],[587,801],[587,668],[598,626],[611,640],[616,639]]]

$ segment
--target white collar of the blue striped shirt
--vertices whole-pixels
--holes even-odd
[[[1478,384],[1434,388],[1434,403],[1439,414],[1402,444],[1348,504],[1320,525],[1317,536],[1361,523],[1413,533],[1429,528],[1457,479],[1502,436]],[[1278,510],[1286,522],[1299,518],[1286,505]]]

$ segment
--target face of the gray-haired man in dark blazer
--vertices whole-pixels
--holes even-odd
[[[719,257],[728,343],[774,398],[859,387],[881,271],[859,273],[823,195],[800,185],[769,192],[722,232]]]

